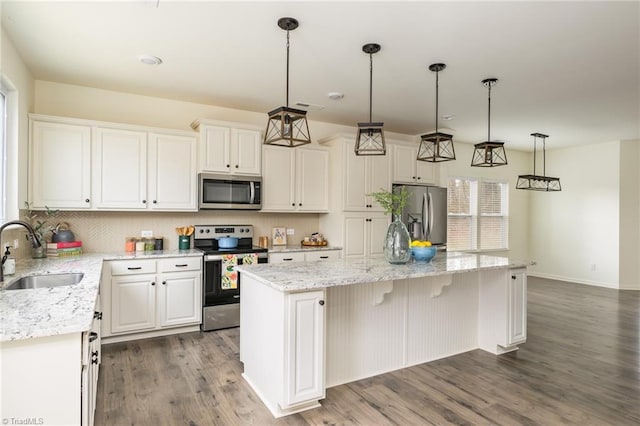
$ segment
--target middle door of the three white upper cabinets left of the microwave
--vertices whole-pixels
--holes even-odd
[[[94,129],[92,173],[93,207],[145,209],[147,132]]]

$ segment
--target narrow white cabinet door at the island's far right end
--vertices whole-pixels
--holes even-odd
[[[508,285],[507,343],[517,345],[527,341],[527,273],[512,269]]]

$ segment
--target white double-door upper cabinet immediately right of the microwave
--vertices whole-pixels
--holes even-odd
[[[263,149],[262,210],[326,212],[329,153],[314,148]]]

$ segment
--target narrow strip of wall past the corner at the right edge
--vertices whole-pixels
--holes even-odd
[[[620,143],[620,285],[640,290],[640,140]]]

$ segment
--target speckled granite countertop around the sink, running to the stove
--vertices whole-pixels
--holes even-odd
[[[192,249],[18,259],[16,273],[6,276],[0,289],[0,342],[90,330],[105,260],[202,255],[200,250]],[[23,276],[66,272],[83,272],[84,277],[78,284],[70,286],[4,290],[5,286]]]

